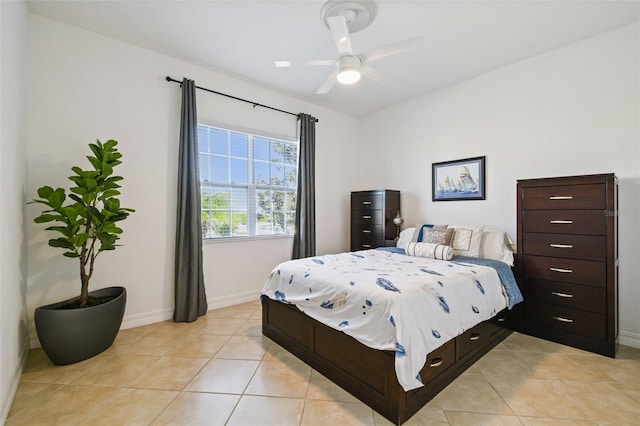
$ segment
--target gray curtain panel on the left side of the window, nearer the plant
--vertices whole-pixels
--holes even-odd
[[[198,170],[198,114],[195,82],[182,80],[180,152],[178,158],[178,217],[176,220],[176,322],[195,321],[207,313],[202,272],[200,173]]]

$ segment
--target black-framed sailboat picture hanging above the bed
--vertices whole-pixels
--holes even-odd
[[[485,199],[485,157],[431,164],[431,200]]]

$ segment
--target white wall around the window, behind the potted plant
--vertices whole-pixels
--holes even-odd
[[[306,112],[316,128],[317,249],[348,248],[348,191],[355,179],[356,119],[37,15],[30,16],[28,94],[28,197],[44,184],[67,187],[69,168],[85,164],[87,144],[119,141],[124,162],[123,206],[136,209],[123,224],[123,247],[103,253],[94,289],[127,287],[123,327],[168,319],[173,314],[173,251],[177,141],[181,92],[176,79],[292,112]],[[197,91],[198,114],[221,124],[296,134],[295,117]],[[353,148],[350,148],[353,146]],[[343,155],[334,156],[335,152]],[[74,260],[48,247],[38,213],[27,208],[29,311],[79,292]],[[209,307],[257,300],[266,276],[290,259],[291,238],[204,245]],[[35,332],[29,317],[32,343]]]

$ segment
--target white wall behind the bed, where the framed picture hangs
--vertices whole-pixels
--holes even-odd
[[[359,187],[401,190],[407,225],[484,224],[515,240],[516,180],[616,173],[620,341],[640,347],[639,31],[627,26],[365,117]],[[431,201],[432,163],[482,155],[485,201]]]

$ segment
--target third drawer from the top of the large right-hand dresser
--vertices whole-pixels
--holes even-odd
[[[604,235],[523,233],[522,252],[539,256],[571,259],[607,259],[607,237]]]

